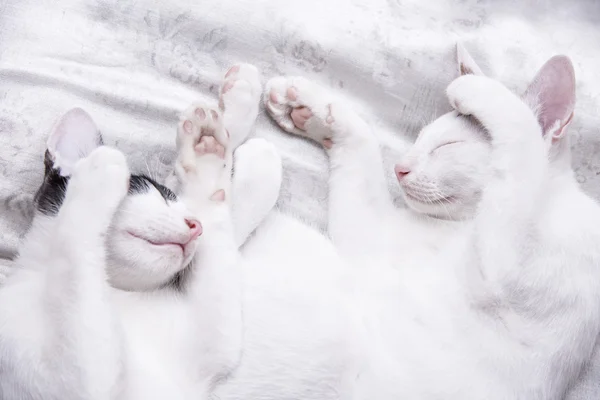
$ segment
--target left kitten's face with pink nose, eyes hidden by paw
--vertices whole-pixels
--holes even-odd
[[[111,284],[141,291],[173,282],[191,262],[201,233],[200,222],[173,192],[132,176],[107,237]]]

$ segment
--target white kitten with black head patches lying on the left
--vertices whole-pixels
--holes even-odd
[[[62,118],[48,141],[39,212],[0,287],[2,399],[206,398],[235,368],[242,239],[229,212],[231,142],[248,135],[260,94],[256,69],[238,65],[225,78],[223,114],[198,105],[183,113],[179,198],[130,176],[83,110]],[[238,196],[268,169],[264,183],[278,188],[272,146],[251,141],[240,151],[247,176],[235,179]],[[253,208],[264,215],[273,192],[246,200],[270,202]],[[240,231],[258,222],[246,218]]]

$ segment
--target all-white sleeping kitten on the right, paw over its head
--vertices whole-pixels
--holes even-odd
[[[259,229],[243,252],[264,263],[244,276],[244,357],[219,398],[564,396],[600,329],[600,210],[568,166],[571,63],[548,61],[525,101],[472,75],[448,95],[458,113],[396,167],[413,209],[475,213],[436,248],[454,224],[392,207],[367,123],[305,79],[269,82],[280,126],[328,148],[335,248],[281,217]]]

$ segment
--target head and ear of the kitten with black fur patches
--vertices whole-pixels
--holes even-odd
[[[48,139],[44,182],[35,196],[40,213],[59,212],[77,161],[102,142],[85,111],[73,109],[60,119]],[[200,222],[171,190],[147,176],[132,175],[129,193],[106,237],[110,283],[123,290],[144,291],[178,282],[201,233]]]

